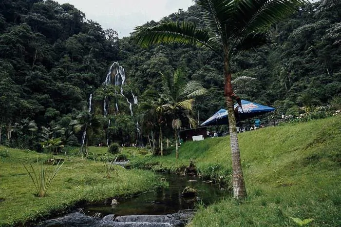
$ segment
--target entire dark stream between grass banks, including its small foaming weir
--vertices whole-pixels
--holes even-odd
[[[116,206],[81,207],[37,227],[182,227],[193,216],[198,204],[208,205],[229,196],[227,190],[199,178],[160,174],[161,178],[169,182],[168,188],[144,192],[131,199],[117,199]],[[186,186],[197,189],[197,196],[182,197]]]

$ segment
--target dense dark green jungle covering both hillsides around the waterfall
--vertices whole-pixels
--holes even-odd
[[[205,27],[195,5],[144,26],[163,21]],[[340,21],[341,2],[321,0],[273,24],[272,44],[231,60],[235,94],[273,106],[279,116],[340,104]],[[146,117],[146,106],[156,102],[152,93],[167,95],[160,73],[170,77],[179,68],[183,82],[207,90],[180,115],[182,127],[224,108],[223,62],[216,55],[190,45],[141,48],[133,36],[119,39],[115,28],[103,30],[71,4],[1,0],[0,144],[42,150],[42,144],[123,144],[139,137],[157,144],[160,118]],[[104,83],[113,62],[125,70],[121,87]],[[162,122],[166,138],[173,138],[171,119]]]

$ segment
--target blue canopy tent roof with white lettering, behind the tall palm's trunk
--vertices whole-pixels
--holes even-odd
[[[234,105],[236,108],[238,104]],[[242,110],[243,108],[243,110]],[[275,111],[275,108],[269,107],[266,105],[261,105],[258,103],[252,103],[246,100],[242,100],[242,108],[239,107],[239,117],[240,120],[245,120],[247,118],[253,118],[258,115],[262,115],[268,112]],[[213,114],[210,118],[208,118],[204,123],[200,124],[201,126],[209,126],[209,125],[221,125],[221,124],[228,124],[227,118],[227,110],[220,109],[218,112]]]

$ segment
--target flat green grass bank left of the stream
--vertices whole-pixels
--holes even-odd
[[[57,156],[65,163],[47,196],[39,198],[23,165],[48,158],[34,151],[0,146],[0,227],[27,225],[82,203],[107,203],[108,198],[123,199],[164,184],[152,172],[120,166],[115,166],[116,173],[107,179],[101,162]]]

